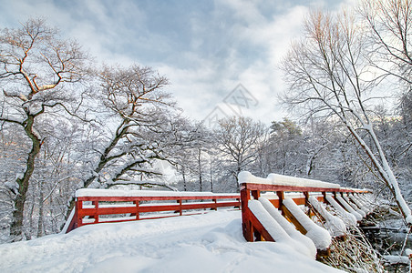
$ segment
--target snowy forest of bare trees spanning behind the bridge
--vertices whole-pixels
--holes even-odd
[[[291,116],[270,125],[208,128],[156,67],[97,64],[43,19],[2,29],[0,242],[59,232],[79,188],[237,192],[242,170],[370,188],[410,225],[411,4],[307,15],[282,63]]]

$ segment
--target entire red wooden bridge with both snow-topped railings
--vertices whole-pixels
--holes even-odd
[[[292,222],[294,227],[304,235],[312,227],[307,226],[307,219],[302,215],[297,216],[296,209],[290,206],[292,204],[296,207],[310,207],[306,213],[307,217],[310,218],[316,210],[316,206],[310,202],[311,197],[315,197],[317,202],[335,206],[347,214],[354,213],[356,217],[360,217],[361,214],[366,215],[365,212],[361,211],[362,207],[359,205],[361,202],[367,203],[365,198],[359,199],[368,193],[366,190],[340,187],[337,184],[297,177],[279,175],[270,175],[267,178],[254,177],[248,172],[241,172],[239,181],[241,184],[240,195],[80,189],[76,193],[76,207],[66,232],[90,224],[176,217],[204,213],[207,210],[219,208],[232,208],[242,209],[242,229],[246,240],[275,241],[275,236],[268,231],[271,228],[273,230],[273,227],[265,226],[262,219],[257,217],[251,209],[251,201],[259,200],[260,197],[269,199],[273,207],[280,209],[282,216]],[[292,199],[293,202],[289,201],[289,206],[285,206],[286,199]],[[317,206],[317,209],[322,210],[322,207]],[[269,210],[271,209],[269,208]],[[300,210],[298,209],[298,212]],[[263,213],[265,212],[263,211]],[[322,218],[322,211],[319,213]],[[323,220],[326,221],[327,217]],[[357,220],[360,219],[357,218]],[[326,253],[327,255],[328,249],[324,245],[316,247],[318,254]]]

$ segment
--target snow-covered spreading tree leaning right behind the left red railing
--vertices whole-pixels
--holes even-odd
[[[163,90],[168,84],[165,76],[138,65],[106,66],[98,73],[95,89],[101,111],[96,119],[100,126],[88,139],[94,152],[89,154],[88,173],[80,187],[145,185],[139,176],[160,175],[151,164],[155,158],[164,158],[166,141],[161,136],[169,134],[173,119],[174,103]],[[67,213],[74,198],[69,204]]]

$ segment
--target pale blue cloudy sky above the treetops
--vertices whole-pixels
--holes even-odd
[[[290,116],[280,60],[302,36],[310,9],[353,0],[0,0],[0,28],[41,17],[76,39],[97,62],[151,66],[194,120]]]

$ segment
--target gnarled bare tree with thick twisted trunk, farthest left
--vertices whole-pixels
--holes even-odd
[[[29,20],[19,29],[3,29],[0,35],[0,121],[21,126],[30,151],[26,167],[16,176],[16,191],[10,234],[22,238],[26,193],[35,170],[44,136],[40,116],[53,107],[67,109],[76,97],[67,84],[85,76],[88,56],[75,41],[61,40],[58,32],[42,20]]]

